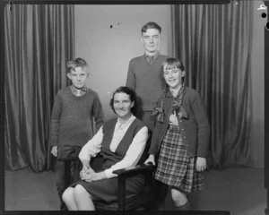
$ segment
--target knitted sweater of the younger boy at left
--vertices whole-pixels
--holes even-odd
[[[76,97],[70,86],[56,94],[50,122],[50,146],[83,146],[103,125],[103,112],[98,94],[88,89]]]

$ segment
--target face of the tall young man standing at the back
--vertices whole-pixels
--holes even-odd
[[[160,50],[160,31],[156,29],[148,29],[142,33],[141,41],[143,48],[147,54],[154,54]]]

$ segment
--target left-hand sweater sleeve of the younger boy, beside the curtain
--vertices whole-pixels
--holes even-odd
[[[54,99],[54,104],[52,108],[52,114],[50,119],[50,128],[49,128],[49,142],[50,146],[57,146],[58,145],[58,136],[59,136],[59,125],[60,119],[62,115],[62,97],[58,92]]]

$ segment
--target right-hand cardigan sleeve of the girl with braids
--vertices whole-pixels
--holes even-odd
[[[195,97],[191,99],[191,105],[194,110],[195,119],[198,126],[197,156],[205,158],[208,153],[210,126],[207,119],[204,102],[198,93],[196,93]]]

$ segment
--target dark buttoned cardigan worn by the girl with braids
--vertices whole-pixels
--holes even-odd
[[[179,97],[176,100],[178,101]],[[174,98],[170,91],[168,91],[163,102],[164,121],[161,123],[156,119],[149,154],[156,155],[159,153],[161,142],[169,128],[169,116],[173,111],[173,101]],[[178,116],[178,126],[182,140],[187,146],[187,155],[188,157],[197,156],[205,158],[208,153],[210,127],[204,102],[196,90],[187,87],[182,107],[185,108],[187,117],[180,118]]]

